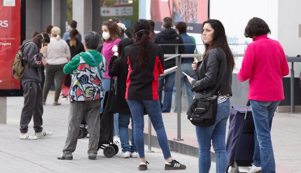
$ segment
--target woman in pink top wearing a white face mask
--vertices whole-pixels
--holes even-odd
[[[110,89],[110,79],[109,76],[109,63],[110,59],[114,54],[114,51],[112,48],[116,45],[118,47],[119,41],[121,41],[121,33],[118,25],[113,21],[105,21],[102,24],[101,27],[102,30],[102,39],[103,47],[101,50],[101,55],[104,56],[104,58],[107,61],[107,70],[104,74],[104,78],[102,79],[102,86],[104,87],[104,91],[108,91]],[[104,100],[101,100],[101,107],[104,103]],[[114,143],[120,145],[120,139],[119,139],[119,130],[118,130],[118,114],[114,114]]]

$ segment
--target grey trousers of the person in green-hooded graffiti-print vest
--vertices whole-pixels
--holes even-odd
[[[88,156],[97,155],[100,135],[100,106],[101,99],[70,102],[69,126],[63,156],[72,156],[75,151],[79,126],[84,116],[89,131]]]

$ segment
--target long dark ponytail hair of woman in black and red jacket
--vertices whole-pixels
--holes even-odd
[[[137,56],[137,68],[139,70],[142,70],[144,68],[149,59],[150,46],[148,35],[150,34],[150,28],[150,23],[145,19],[136,20],[133,24],[136,40],[139,40],[139,42],[136,42],[136,45],[139,43]]]

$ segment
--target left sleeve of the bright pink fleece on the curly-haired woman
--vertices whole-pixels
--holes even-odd
[[[240,82],[250,79],[252,76],[252,69],[254,66],[255,59],[255,50],[251,47],[251,44],[248,45],[247,50],[244,54],[244,59],[241,64],[239,73],[237,74],[237,79]]]

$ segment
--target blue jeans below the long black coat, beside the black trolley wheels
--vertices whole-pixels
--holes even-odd
[[[121,142],[121,148],[122,152],[137,152],[137,148],[135,145],[135,140],[134,140],[134,123],[133,123],[133,118],[131,118],[131,114],[119,114],[118,115],[118,128],[119,128],[119,134],[120,134],[120,142]],[[130,119],[132,119],[132,145],[130,146],[129,144],[129,132],[128,132],[128,127],[130,123]]]

